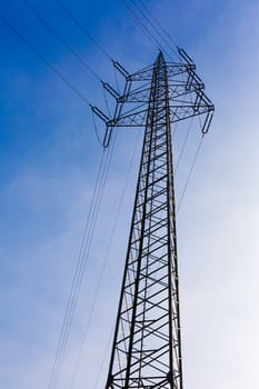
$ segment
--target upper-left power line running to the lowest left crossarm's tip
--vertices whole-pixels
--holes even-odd
[[[24,46],[27,46],[70,90],[73,91],[84,103],[90,106],[88,99],[73,84],[51,64],[6,18],[0,17],[0,22],[11,30]]]

